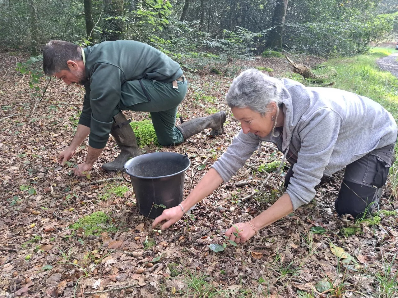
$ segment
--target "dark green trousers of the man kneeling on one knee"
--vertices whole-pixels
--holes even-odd
[[[119,110],[150,112],[160,145],[182,143],[184,138],[176,128],[176,116],[178,105],[187,93],[188,82],[184,79],[177,84],[176,89],[172,82],[152,79],[127,81],[121,86],[122,98],[114,113],[116,115]]]

